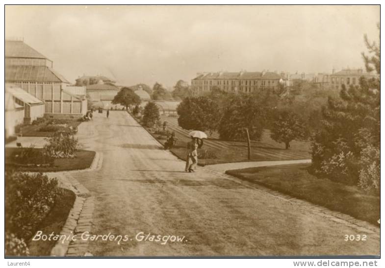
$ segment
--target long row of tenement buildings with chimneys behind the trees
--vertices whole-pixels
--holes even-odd
[[[191,80],[191,89],[194,96],[210,92],[214,87],[226,92],[251,93],[259,89],[278,88],[280,84],[291,86],[295,81],[308,81],[320,88],[340,90],[343,84],[359,85],[359,78],[377,77],[376,74],[364,73],[362,69],[343,69],[339,72],[329,73],[277,73],[277,72],[218,72],[198,73]]]

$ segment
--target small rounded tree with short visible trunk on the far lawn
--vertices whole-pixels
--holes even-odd
[[[291,141],[300,141],[307,137],[307,126],[295,113],[280,110],[275,113],[270,137],[276,142],[284,143],[288,149]]]

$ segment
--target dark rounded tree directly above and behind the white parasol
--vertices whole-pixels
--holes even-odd
[[[218,104],[208,97],[186,97],[177,112],[178,124],[184,129],[214,131],[220,120]]]

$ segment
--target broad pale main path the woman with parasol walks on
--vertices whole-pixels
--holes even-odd
[[[91,241],[94,256],[380,254],[379,228],[358,229],[217,171],[183,172],[183,161],[125,112],[111,111],[108,119],[95,113],[78,136],[84,149],[103,153],[100,170],[71,173],[95,197],[91,232],[128,236]],[[147,241],[135,239],[140,232]],[[184,240],[162,244],[152,234]],[[346,242],[346,234],[367,239]]]

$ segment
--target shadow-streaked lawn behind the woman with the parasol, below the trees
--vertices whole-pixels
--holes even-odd
[[[175,131],[178,142],[171,151],[180,159],[185,158],[186,144],[190,141],[188,133],[190,131],[182,129],[178,126],[177,117],[161,116],[161,121],[168,122],[168,130]],[[209,134],[209,133],[206,133]],[[165,136],[153,134],[154,138],[164,144]],[[210,164],[243,162],[243,161],[273,161],[273,160],[297,160],[310,158],[309,142],[290,143],[290,149],[286,150],[284,144],[277,143],[270,138],[270,131],[265,129],[261,141],[252,141],[251,159],[247,159],[247,143],[223,141],[219,139],[218,133],[213,133],[205,140],[204,146],[198,149],[199,153],[209,154],[210,158],[203,159],[200,157],[199,165],[205,166]]]

